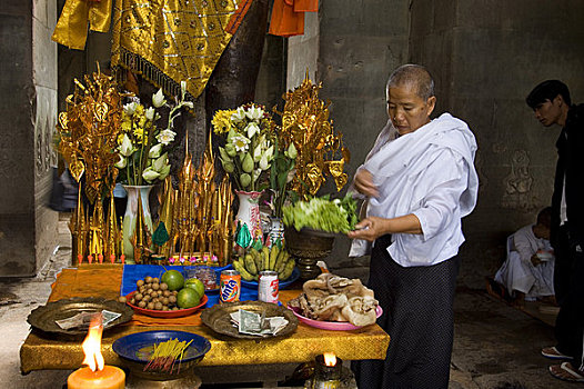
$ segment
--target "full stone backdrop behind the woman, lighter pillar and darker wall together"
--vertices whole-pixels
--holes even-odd
[[[318,63],[315,80],[352,151],[353,174],[386,121],[389,73],[406,62],[431,70],[435,116],[450,111],[467,121],[480,148],[480,197],[463,222],[460,280],[481,288],[504,259],[506,236],[550,203],[560,129],[542,128],[524,99],[556,78],[584,101],[582,14],[578,0],[323,1],[318,36],[310,37],[308,23],[309,37],[290,39],[289,88],[304,76],[298,64]],[[366,273],[366,258],[349,260],[348,247],[336,239],[329,265]]]

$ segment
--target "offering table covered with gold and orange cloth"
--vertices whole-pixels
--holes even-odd
[[[49,301],[72,297],[102,297],[117,299],[122,280],[122,266],[94,265],[63,269],[52,286]],[[300,290],[281,290],[280,300],[285,303]],[[142,321],[143,320],[143,321]],[[200,312],[185,318],[160,319],[134,315],[133,320],[105,330],[102,353],[107,365],[123,367],[112,350],[112,343],[122,336],[150,330],[181,330],[198,333],[211,342],[211,350],[199,363],[200,367],[271,365],[306,362],[316,355],[334,352],[344,360],[384,359],[390,337],[377,325],[352,331],[328,331],[299,323],[294,333],[282,338],[258,340],[234,339],[213,332],[200,320]],[[182,322],[182,325],[181,325]],[[83,337],[66,338],[31,331],[20,348],[22,373],[33,370],[70,370],[81,367]]]

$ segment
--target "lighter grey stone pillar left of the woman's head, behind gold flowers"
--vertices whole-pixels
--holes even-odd
[[[352,177],[387,121],[385,81],[407,58],[409,4],[406,0],[321,1],[318,14],[305,14],[304,36],[288,47],[288,89],[298,87],[309,70],[323,83],[320,97],[331,100],[331,119],[351,151],[346,172]],[[330,182],[332,183],[332,182]],[[324,191],[334,190],[333,184]],[[344,192],[344,191],[343,191]],[[335,238],[329,267],[363,277],[367,259],[349,260],[348,238]]]

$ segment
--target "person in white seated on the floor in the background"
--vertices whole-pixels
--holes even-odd
[[[509,238],[507,259],[495,275],[516,306],[536,299],[554,300],[554,250],[550,245],[552,208],[540,211],[535,225],[521,228]]]

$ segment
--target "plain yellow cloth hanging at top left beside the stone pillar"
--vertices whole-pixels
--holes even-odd
[[[83,50],[88,23],[92,31],[108,32],[112,0],[67,0],[54,27],[52,40],[70,49]]]

